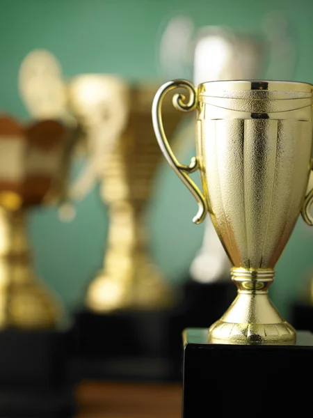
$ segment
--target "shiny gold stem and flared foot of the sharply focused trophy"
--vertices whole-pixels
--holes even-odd
[[[296,331],[284,321],[268,297],[274,270],[232,268],[238,295],[209,328],[211,343],[294,344]]]

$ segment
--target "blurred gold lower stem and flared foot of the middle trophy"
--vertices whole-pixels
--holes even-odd
[[[109,206],[104,267],[91,282],[86,297],[93,311],[155,309],[172,302],[170,288],[147,253],[141,207],[126,200]]]

